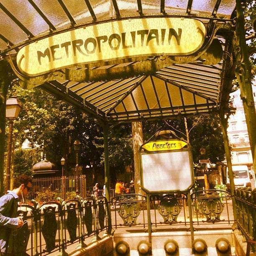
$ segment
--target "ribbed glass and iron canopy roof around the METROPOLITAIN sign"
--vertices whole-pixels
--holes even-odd
[[[0,57],[8,59],[24,88],[41,86],[102,121],[217,113],[220,105],[228,105],[232,89],[235,7],[235,0],[1,0]],[[20,49],[42,38],[154,17],[200,20],[204,43],[187,56],[128,56],[38,77],[22,74],[16,63]]]

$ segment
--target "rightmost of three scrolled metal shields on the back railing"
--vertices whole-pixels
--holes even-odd
[[[220,215],[223,212],[224,204],[221,202],[219,193],[200,194],[198,202],[199,210],[206,217],[206,220],[203,222],[215,223],[221,221]]]

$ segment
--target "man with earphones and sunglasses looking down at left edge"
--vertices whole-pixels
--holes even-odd
[[[15,255],[13,252],[14,237],[12,230],[24,224],[21,216],[16,217],[18,202],[23,201],[31,190],[32,179],[21,174],[14,179],[13,190],[0,197],[0,255]]]

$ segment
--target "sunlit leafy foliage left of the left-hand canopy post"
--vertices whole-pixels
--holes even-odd
[[[93,161],[94,166],[99,165],[103,139],[95,120],[38,88],[22,90],[15,87],[12,94],[23,105],[14,125],[14,137],[18,147],[26,138],[32,147],[43,145],[46,159],[56,164],[58,169],[61,168],[60,159],[64,156],[68,174],[69,166],[74,166],[76,161],[73,143],[79,139],[82,143],[80,163],[86,165],[88,161]]]

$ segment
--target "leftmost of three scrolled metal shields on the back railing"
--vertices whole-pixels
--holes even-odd
[[[118,214],[123,219],[124,226],[136,225],[138,215],[140,215],[141,208],[138,205],[136,195],[119,197],[120,207]]]

